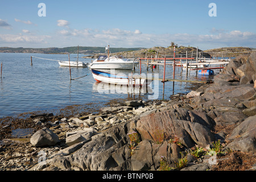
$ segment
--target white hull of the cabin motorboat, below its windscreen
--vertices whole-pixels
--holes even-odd
[[[126,62],[126,63],[119,63],[119,62],[93,62],[90,64],[90,69],[133,69],[139,63],[133,62]]]

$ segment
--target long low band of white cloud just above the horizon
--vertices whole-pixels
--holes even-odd
[[[61,26],[67,26],[68,22],[59,22]],[[81,30],[63,28],[57,31],[56,35],[49,37],[46,35],[38,36],[31,34],[28,30],[22,30],[24,35],[0,34],[0,43],[44,43],[44,47],[65,47],[74,44],[84,46],[106,46],[115,47],[154,47],[170,46],[175,42],[179,46],[193,46],[200,49],[216,47],[256,47],[256,34],[254,32],[242,32],[240,30],[222,31],[217,30],[210,34],[144,34],[139,30],[121,30],[113,28],[109,30],[93,30],[84,28]],[[49,39],[51,38],[51,39]],[[58,44],[59,43],[59,44]]]

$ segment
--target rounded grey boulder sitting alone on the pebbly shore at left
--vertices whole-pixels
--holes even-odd
[[[59,137],[47,127],[36,131],[30,139],[32,146],[36,147],[54,146],[57,142],[59,142]]]

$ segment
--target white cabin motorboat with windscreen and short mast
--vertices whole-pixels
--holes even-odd
[[[125,59],[121,55],[109,56],[109,46],[107,50],[108,56],[99,56],[89,64],[90,69],[133,69],[139,64],[135,59]]]

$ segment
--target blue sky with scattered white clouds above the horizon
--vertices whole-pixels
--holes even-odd
[[[0,47],[256,48],[255,8],[254,0],[0,0]]]

